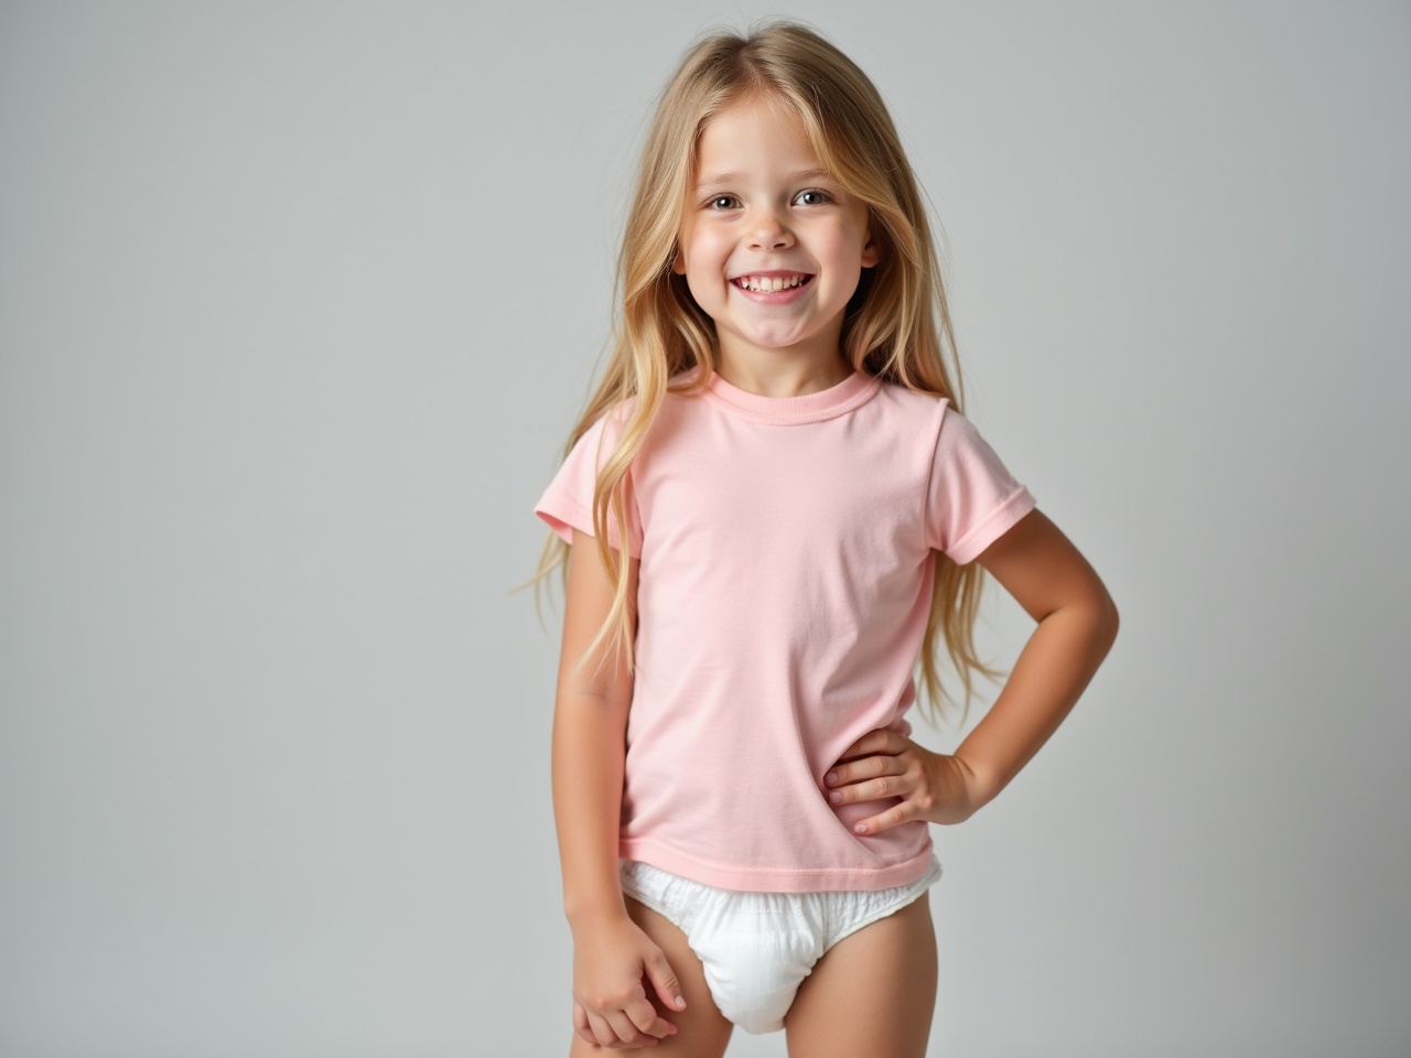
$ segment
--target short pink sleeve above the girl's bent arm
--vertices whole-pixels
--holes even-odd
[[[927,492],[927,545],[965,566],[1034,505],[975,425],[947,403]]]

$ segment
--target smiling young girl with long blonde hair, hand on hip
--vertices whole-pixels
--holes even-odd
[[[959,413],[921,195],[868,78],[794,24],[662,96],[607,375],[535,506],[566,563],[553,797],[571,1054],[926,1051],[928,824],[991,801],[1116,635]],[[947,364],[951,360],[951,364]],[[564,545],[569,545],[567,547]],[[1037,621],[954,755],[910,739],[991,573]]]

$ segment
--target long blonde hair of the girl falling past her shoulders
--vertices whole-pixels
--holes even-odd
[[[564,446],[567,456],[608,411],[622,415],[618,444],[602,464],[593,494],[597,549],[615,594],[580,666],[607,643],[634,671],[628,566],[608,546],[608,518],[611,513],[615,526],[628,525],[628,471],[666,399],[670,378],[700,365],[703,370],[687,385],[673,389],[690,395],[704,389],[715,370],[714,324],[696,305],[684,276],[672,271],[672,262],[701,130],[713,114],[745,93],[769,95],[796,111],[824,168],[868,205],[880,260],[864,271],[848,303],[842,355],[854,370],[950,398],[951,408],[961,412],[959,364],[926,205],[876,87],[848,56],[797,23],[776,21],[744,37],[722,32],[701,39],[666,85],[648,131],[618,255],[612,353]],[[532,583],[555,567],[562,567],[566,580],[567,554],[569,546],[550,532]],[[974,673],[999,674],[975,653],[983,570],[957,566],[944,553],[934,559],[934,592],[920,657],[924,698],[940,711],[945,695],[935,657],[937,640],[944,639],[964,688],[964,717],[974,694]],[[923,695],[917,698],[923,715],[934,721]]]

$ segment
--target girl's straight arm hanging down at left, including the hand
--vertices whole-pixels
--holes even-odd
[[[634,622],[638,567],[639,560],[628,557]],[[573,931],[573,1023],[588,1042],[653,1047],[676,1026],[658,1016],[642,985],[643,973],[669,1009],[680,1010],[684,1000],[660,948],[628,917],[618,882],[632,677],[617,657],[601,666],[593,657],[573,674],[611,605],[612,581],[597,540],[574,529],[553,712],[553,814],[563,907]]]

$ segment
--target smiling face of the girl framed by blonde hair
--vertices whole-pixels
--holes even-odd
[[[697,147],[673,268],[715,322],[722,361],[837,360],[848,299],[878,262],[866,205],[768,97],[732,100]]]

